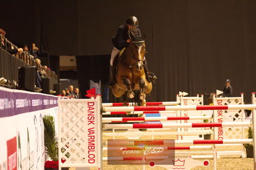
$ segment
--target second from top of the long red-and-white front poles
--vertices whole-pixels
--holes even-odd
[[[131,129],[131,128],[199,128],[199,127],[248,127],[250,122],[223,122],[223,123],[133,123],[133,124],[105,124],[104,128]]]

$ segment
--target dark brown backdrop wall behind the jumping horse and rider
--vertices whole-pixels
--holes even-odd
[[[158,77],[150,100],[175,100],[178,91],[214,92],[226,79],[234,96],[244,92],[246,101],[256,91],[256,1],[26,0],[1,6],[0,27],[13,42],[35,42],[52,56],[88,58],[80,65],[95,70],[84,68],[83,81],[94,72],[108,76],[108,62],[100,58],[109,58],[117,27],[135,15],[147,35],[149,70]],[[99,65],[92,56],[101,56]]]

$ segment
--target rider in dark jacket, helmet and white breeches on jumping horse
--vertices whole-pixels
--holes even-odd
[[[126,20],[126,24],[123,24],[118,27],[117,35],[112,38],[112,43],[114,45],[114,49],[111,53],[110,59],[110,82],[108,82],[108,87],[113,88],[115,85],[115,68],[113,66],[115,57],[119,54],[119,51],[122,50],[124,47],[128,47],[128,44],[132,42],[130,38],[130,32],[136,33],[137,36],[141,36],[141,30],[139,29],[139,20],[135,16],[130,16]],[[148,65],[146,58],[144,58],[144,72],[146,74],[146,79],[148,82],[153,82],[157,77],[151,73],[149,75]]]

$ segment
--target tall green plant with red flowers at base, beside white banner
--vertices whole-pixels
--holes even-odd
[[[58,138],[56,137],[55,122],[53,116],[44,116],[44,146],[47,155],[51,160],[47,160],[44,168],[58,169]],[[65,162],[65,160],[64,160]],[[68,169],[63,168],[62,169]]]

